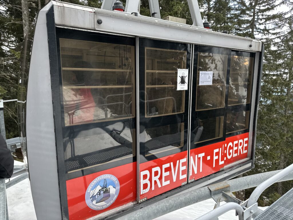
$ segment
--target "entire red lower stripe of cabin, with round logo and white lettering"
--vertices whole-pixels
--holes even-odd
[[[227,164],[246,158],[247,154],[248,133],[193,149],[189,179],[197,180],[217,172]],[[150,199],[181,186],[187,181],[187,164],[187,151],[140,164],[140,199]],[[136,163],[67,180],[66,185],[69,219],[88,219],[136,200]],[[111,191],[113,186],[115,191]]]

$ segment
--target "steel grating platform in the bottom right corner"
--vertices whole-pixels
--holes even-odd
[[[293,219],[293,188],[260,213],[254,220]]]

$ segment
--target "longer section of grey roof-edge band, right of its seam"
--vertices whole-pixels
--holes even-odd
[[[115,15],[112,13],[115,13]],[[249,38],[240,38],[234,35],[210,31],[205,28],[151,17],[137,17],[124,13],[118,13],[118,15],[117,12],[112,11],[108,11],[108,13],[102,13],[100,10],[96,11],[95,21],[98,18],[103,21],[102,24],[95,22],[96,30],[151,39],[235,48],[238,50],[261,50],[261,43]],[[252,47],[249,47],[249,45],[252,45]]]

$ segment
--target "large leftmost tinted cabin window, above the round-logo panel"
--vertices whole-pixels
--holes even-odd
[[[132,162],[134,46],[63,38],[59,42],[68,177]],[[96,124],[85,125],[92,122]]]

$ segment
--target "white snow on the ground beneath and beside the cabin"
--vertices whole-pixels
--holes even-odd
[[[23,165],[23,163],[15,161],[14,165]],[[33,198],[30,192],[29,180],[25,179],[16,185],[6,189],[9,220],[36,220]],[[214,200],[207,199],[182,209],[170,212],[160,216],[155,220],[193,220],[211,211],[214,208]],[[221,202],[221,205],[225,202]],[[264,210],[266,207],[259,207]],[[219,217],[219,220],[238,220],[235,216],[235,210],[228,211]]]

